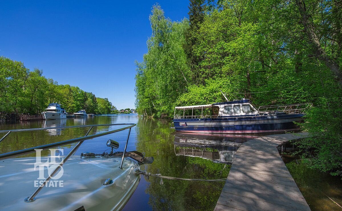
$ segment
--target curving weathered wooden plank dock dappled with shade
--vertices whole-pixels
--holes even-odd
[[[243,143],[214,210],[310,210],[277,149],[307,136],[268,135]]]

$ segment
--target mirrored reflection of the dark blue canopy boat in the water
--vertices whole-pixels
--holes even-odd
[[[200,157],[215,163],[232,164],[242,143],[258,136],[205,135],[175,133],[174,150],[176,155]]]

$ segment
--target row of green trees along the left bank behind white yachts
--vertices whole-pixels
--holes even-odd
[[[69,84],[58,84],[43,71],[27,69],[22,62],[0,56],[0,120],[21,114],[41,114],[49,103],[59,103],[69,114],[118,114],[108,98],[96,97]]]

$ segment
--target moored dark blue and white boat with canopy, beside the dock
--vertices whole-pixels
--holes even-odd
[[[257,109],[249,99],[179,106],[175,107],[173,123],[176,131],[192,133],[295,132],[300,130],[295,122],[303,122],[304,112],[311,106],[311,103],[301,103]],[[205,115],[209,112],[210,115]]]

